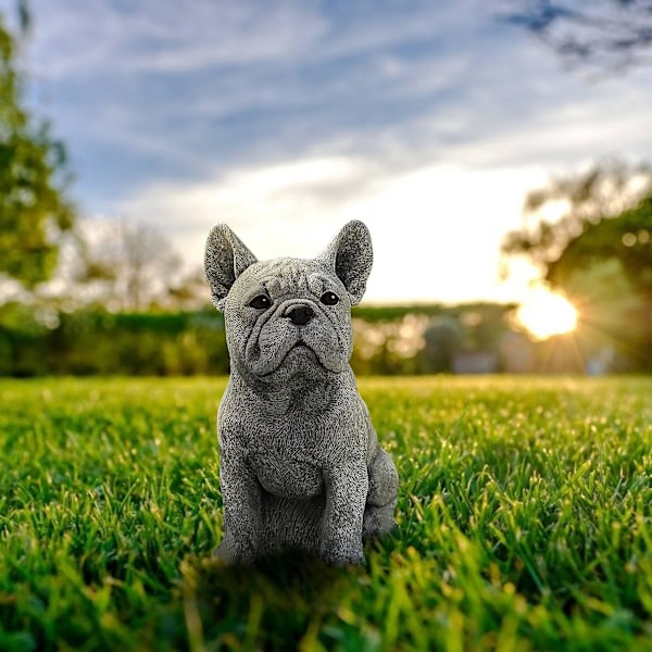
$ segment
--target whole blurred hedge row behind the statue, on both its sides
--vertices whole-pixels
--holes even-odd
[[[636,328],[620,333],[616,343],[590,333],[532,341],[514,324],[514,310],[490,303],[360,306],[353,310],[351,364],[358,374],[392,375],[652,371],[650,359],[639,354]],[[224,322],[212,308],[142,313],[0,308],[0,375],[225,373]]]

